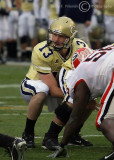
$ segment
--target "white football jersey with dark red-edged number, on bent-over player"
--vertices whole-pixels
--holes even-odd
[[[70,96],[74,88],[84,81],[91,92],[91,98],[101,96],[114,72],[114,44],[94,51],[72,72],[66,84]]]

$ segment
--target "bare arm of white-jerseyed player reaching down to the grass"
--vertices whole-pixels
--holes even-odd
[[[87,108],[90,99],[90,91],[84,81],[81,81],[75,88],[73,109],[66,124],[62,144],[66,145],[75,131],[75,128],[83,124],[91,113]]]

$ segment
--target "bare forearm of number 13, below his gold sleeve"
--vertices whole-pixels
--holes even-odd
[[[40,79],[48,85],[49,90],[50,90],[50,94],[53,97],[59,97],[59,98],[63,98],[63,92],[62,90],[58,87],[57,81],[55,79],[55,77],[53,76],[52,73],[49,74],[41,74],[39,73]]]

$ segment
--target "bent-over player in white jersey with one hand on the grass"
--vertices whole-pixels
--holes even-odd
[[[80,52],[80,49],[77,52]],[[73,109],[60,147],[50,157],[68,156],[64,146],[68,144],[75,128],[89,117],[90,100],[100,96],[102,98],[96,128],[102,131],[114,147],[114,44],[91,51],[68,77],[66,85],[73,98]],[[114,151],[100,160],[113,159]]]

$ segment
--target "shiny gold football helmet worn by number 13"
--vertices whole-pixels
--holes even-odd
[[[76,25],[70,18],[65,16],[59,17],[52,22],[48,30],[48,45],[56,51],[69,48],[73,39],[76,37],[76,33]],[[54,41],[52,40],[53,34],[66,37],[62,46],[58,47],[54,44]]]

